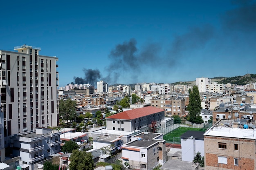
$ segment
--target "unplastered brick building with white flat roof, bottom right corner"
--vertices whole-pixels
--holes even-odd
[[[255,170],[256,133],[238,122],[222,120],[204,134],[205,170]]]

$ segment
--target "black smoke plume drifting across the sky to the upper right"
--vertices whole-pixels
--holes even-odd
[[[220,15],[219,27],[207,23],[203,26],[191,26],[185,33],[173,35],[173,40],[166,46],[146,42],[138,48],[134,38],[124,41],[110,51],[110,64],[105,68],[105,77],[101,77],[97,69],[84,69],[85,78],[74,77],[75,82],[96,84],[102,79],[108,84],[115,84],[122,83],[122,77],[127,82],[136,83],[144,81],[139,77],[152,78],[150,73],[153,72],[166,74],[168,81],[168,76],[175,72],[176,68],[184,64],[191,66],[189,61],[193,60],[191,56],[194,56],[191,54],[200,53],[198,57],[202,60],[197,60],[202,61],[201,65],[208,65],[213,62],[212,57],[208,56],[213,56],[214,61],[220,61],[232,53],[236,55],[236,51],[246,51],[240,47],[245,43],[248,49],[256,49],[255,0],[232,2],[237,5],[236,8]]]

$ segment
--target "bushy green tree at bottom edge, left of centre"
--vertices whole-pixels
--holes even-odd
[[[94,163],[90,152],[74,150],[70,156],[70,170],[93,170]]]

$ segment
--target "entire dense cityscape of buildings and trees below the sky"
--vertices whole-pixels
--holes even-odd
[[[59,87],[58,57],[14,50],[0,50],[0,170],[256,167],[255,81]]]

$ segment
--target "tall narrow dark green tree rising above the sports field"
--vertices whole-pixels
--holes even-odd
[[[189,94],[188,121],[191,121],[192,123],[195,123],[195,124],[203,123],[204,121],[200,116],[201,109],[202,109],[201,99],[198,91],[198,86],[193,86],[193,91],[191,91],[191,93]]]

